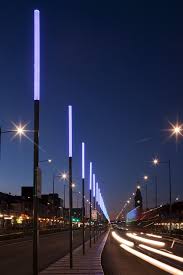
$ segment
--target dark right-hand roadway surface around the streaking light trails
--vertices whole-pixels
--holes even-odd
[[[183,274],[183,262],[174,261],[172,259],[169,259],[167,257],[164,257],[162,255],[158,255],[156,253],[147,251],[141,247],[139,247],[139,243],[136,240],[133,240],[126,236],[126,232],[121,230],[115,230],[116,234],[120,237],[122,237],[125,240],[134,242],[133,249],[143,253],[145,255],[148,255],[149,257],[152,257],[153,259],[159,260],[162,263],[165,263],[169,266],[172,266],[174,268],[177,268],[179,270],[182,270]],[[148,239],[157,240],[155,238],[147,237],[146,235],[138,235],[137,236],[143,236]],[[158,239],[159,241],[159,239]],[[171,244],[168,239],[161,239],[161,241],[165,242],[165,247],[162,251],[169,251],[170,253],[173,253],[178,256],[183,256],[183,245],[175,243],[174,247],[171,249]],[[156,248],[157,249],[157,248]],[[183,258],[182,258],[183,260]],[[129,251],[126,251],[122,247],[120,247],[120,243],[116,241],[116,239],[113,238],[112,234],[109,234],[108,240],[106,242],[106,245],[104,247],[103,253],[102,253],[102,266],[104,270],[104,274],[107,275],[165,275],[165,274],[178,274],[178,273],[167,273],[163,270],[161,270],[158,267],[153,266],[150,263],[147,263],[146,261],[138,258],[137,256],[131,254]]]

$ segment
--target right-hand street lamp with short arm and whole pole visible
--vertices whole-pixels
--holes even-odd
[[[168,161],[160,161],[159,159],[153,159],[153,164],[155,166],[159,164],[167,164],[168,165],[168,176],[169,176],[169,216],[170,216],[170,234],[172,230],[172,182],[171,182],[171,163],[170,160]]]

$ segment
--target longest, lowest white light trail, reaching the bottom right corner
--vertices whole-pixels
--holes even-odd
[[[136,249],[133,249],[125,244],[121,244],[120,245],[124,250],[128,251],[129,253],[135,255],[136,257],[146,261],[149,264],[152,264],[156,267],[158,267],[161,270],[164,270],[166,272],[168,272],[169,274],[173,274],[173,275],[183,275],[183,271],[180,269],[177,269],[171,265],[167,265],[165,263],[162,263],[156,259],[153,259],[152,257],[149,257],[139,251],[137,251]]]

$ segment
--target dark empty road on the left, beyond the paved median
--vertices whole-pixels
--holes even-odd
[[[86,238],[88,238],[86,232]],[[82,242],[82,231],[73,234],[73,246]],[[69,232],[63,231],[40,237],[40,270],[69,252]],[[32,275],[32,240],[30,238],[0,242],[0,274]]]

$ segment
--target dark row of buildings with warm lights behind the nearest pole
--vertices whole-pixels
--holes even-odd
[[[21,196],[0,192],[0,228],[15,224],[20,217],[32,220],[33,216],[33,187],[23,186]],[[63,200],[58,194],[43,194],[39,199],[39,217],[63,220]]]

